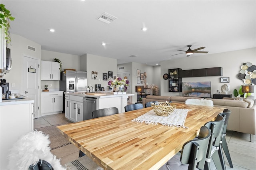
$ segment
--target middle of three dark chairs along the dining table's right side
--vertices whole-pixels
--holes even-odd
[[[223,166],[222,162],[224,162],[223,155],[218,155],[218,149],[220,148],[220,138],[222,138],[222,131],[224,126],[225,118],[218,115],[215,121],[207,122],[205,124],[206,127],[211,129],[211,138],[209,141],[206,160],[205,162],[199,162],[198,166],[202,166],[204,164],[204,170],[210,170],[210,162],[211,158],[216,166],[217,170],[224,170],[226,167]]]

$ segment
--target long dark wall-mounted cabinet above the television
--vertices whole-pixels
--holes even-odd
[[[181,70],[180,77],[222,76],[222,67]]]

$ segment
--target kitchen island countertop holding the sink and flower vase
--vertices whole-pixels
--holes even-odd
[[[93,98],[109,98],[109,97],[123,97],[123,96],[134,96],[134,94],[128,93],[128,94],[122,94],[122,92],[120,92],[120,94],[118,95],[114,95],[111,92],[99,92],[99,93],[94,93],[96,95],[88,95],[88,94],[82,94],[83,92],[74,92],[74,93],[68,93],[68,92],[64,92],[64,94],[67,95],[74,95],[74,96],[81,96],[81,97],[93,97]],[[97,95],[97,94],[106,94],[106,95]]]

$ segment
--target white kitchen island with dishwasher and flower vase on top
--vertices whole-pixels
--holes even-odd
[[[92,119],[92,111],[108,107],[118,108],[123,113],[127,105],[128,96],[134,94],[113,94],[112,92],[99,93],[64,93],[65,94],[65,117],[72,122]]]

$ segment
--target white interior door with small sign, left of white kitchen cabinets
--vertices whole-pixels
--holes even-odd
[[[33,103],[34,118],[39,117],[39,61],[38,59],[23,56],[23,91],[22,95],[35,101]],[[31,68],[30,70],[28,68]]]

